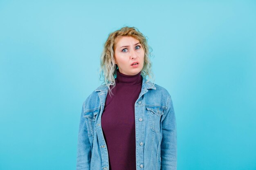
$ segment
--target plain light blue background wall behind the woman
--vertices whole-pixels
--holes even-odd
[[[108,34],[135,26],[172,96],[178,170],[256,170],[255,1],[0,0],[0,170],[72,170]]]

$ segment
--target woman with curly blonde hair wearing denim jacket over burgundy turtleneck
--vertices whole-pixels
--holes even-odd
[[[110,33],[101,56],[105,83],[83,102],[77,170],[176,170],[173,102],[146,79],[148,55],[135,27]]]

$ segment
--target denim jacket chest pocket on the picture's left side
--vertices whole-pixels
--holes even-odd
[[[87,129],[88,129],[88,136],[93,136],[94,132],[96,131],[96,117],[99,113],[100,109],[99,108],[94,108],[94,109],[87,109],[83,113],[83,117],[85,117],[85,121],[87,124]]]

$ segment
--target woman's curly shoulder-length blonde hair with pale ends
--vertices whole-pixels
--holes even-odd
[[[139,40],[145,53],[144,65],[141,70],[141,76],[144,78],[148,76],[149,79],[151,78],[153,78],[153,80],[155,79],[155,76],[152,73],[152,62],[150,62],[149,60],[149,57],[151,57],[152,49],[150,48],[150,46],[148,46],[148,41],[146,37],[141,32],[139,32],[137,28],[125,26],[108,35],[108,39],[104,44],[104,49],[101,54],[100,80],[101,80],[101,77],[104,78],[103,79],[104,82],[102,84],[105,83],[108,86],[109,92],[111,92],[112,88],[115,87],[115,78],[117,77],[118,66],[114,62],[114,45],[115,45],[115,39],[119,36],[131,36]],[[149,51],[149,49],[151,51]],[[148,81],[149,80],[147,80],[147,82]],[[112,86],[111,89],[110,89],[110,86]]]

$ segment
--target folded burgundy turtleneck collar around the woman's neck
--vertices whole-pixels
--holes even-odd
[[[142,84],[141,71],[136,75],[125,75],[117,69],[116,84],[124,86],[138,86]]]

